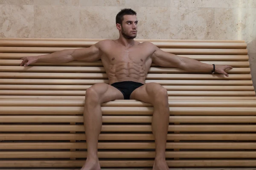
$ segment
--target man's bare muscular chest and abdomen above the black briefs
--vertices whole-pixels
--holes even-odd
[[[121,45],[112,45],[113,49],[102,55],[102,63],[108,75],[109,84],[122,81],[134,81],[145,84],[145,78],[151,66],[150,51],[143,45],[134,45],[129,49]]]

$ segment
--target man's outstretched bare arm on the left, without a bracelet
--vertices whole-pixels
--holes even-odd
[[[66,63],[70,61],[87,61],[93,62],[99,60],[101,57],[101,52],[99,50],[99,42],[88,47],[88,48],[78,48],[75,50],[61,50],[56,51],[51,54],[33,56],[33,57],[23,57],[23,61],[20,66],[26,67],[35,62],[50,62],[50,63]]]

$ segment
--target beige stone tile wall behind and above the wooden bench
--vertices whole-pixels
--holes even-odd
[[[256,88],[256,0],[0,0],[0,37],[118,38],[127,7],[137,38],[245,40]]]

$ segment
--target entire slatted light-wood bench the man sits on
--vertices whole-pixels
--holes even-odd
[[[81,167],[86,158],[86,89],[108,83],[102,62],[35,63],[24,56],[84,48],[99,39],[0,39],[0,167]],[[235,40],[151,41],[163,51],[231,65],[229,77],[152,64],[146,79],[169,94],[169,167],[255,167],[256,96],[247,44]],[[102,167],[152,167],[150,104],[102,104]]]

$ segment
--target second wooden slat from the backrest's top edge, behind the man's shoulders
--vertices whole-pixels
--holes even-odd
[[[1,47],[79,47],[86,48],[97,41],[0,41]],[[230,42],[151,42],[158,48],[246,49],[246,43]]]

